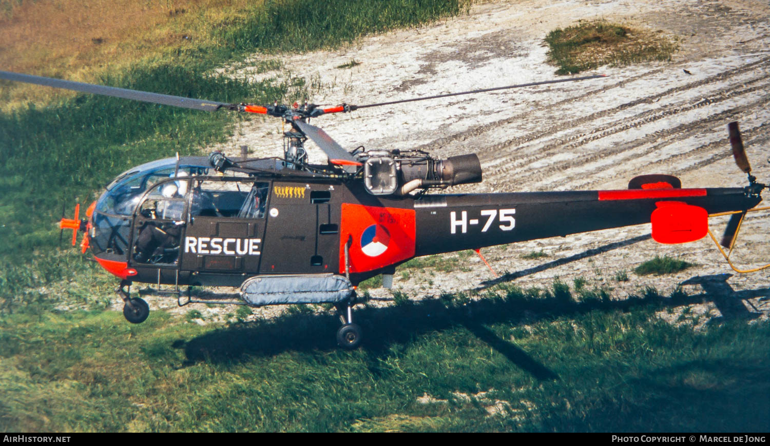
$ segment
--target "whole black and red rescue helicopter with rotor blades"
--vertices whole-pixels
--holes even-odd
[[[420,150],[357,148],[349,152],[310,118],[359,108],[601,78],[593,75],[485,88],[370,105],[292,106],[227,104],[138,92],[125,88],[0,72],[0,78],[67,88],[202,111],[246,111],[283,119],[283,158],[185,156],[130,168],[109,185],[79,218],[59,226],[85,232],[82,252],[121,279],[116,290],[123,315],[138,324],[149,315],[132,282],[154,283],[159,293],[190,302],[278,305],[332,303],[342,326],[337,341],[357,348],[361,328],[353,323],[356,287],[383,275],[390,288],[397,265],[422,255],[474,249],[651,222],[652,238],[685,243],[711,235],[708,218],[732,215],[721,245],[733,247],[741,222],[762,201],[743,150],[738,125],[729,136],[745,188],[681,188],[671,175],[641,175],[628,189],[493,194],[427,194],[481,181],[477,155],[447,159]],[[310,138],[328,156],[308,162]],[[722,255],[728,259],[719,248]],[[730,264],[733,266],[732,264]],[[767,268],[765,265],[762,268]],[[736,271],[740,271],[733,266]],[[760,268],[757,268],[760,269]],[[173,285],[162,291],[161,285]],[[242,301],[192,299],[180,285],[240,288]]]

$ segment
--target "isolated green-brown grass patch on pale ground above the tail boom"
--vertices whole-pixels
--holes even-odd
[[[548,60],[557,75],[569,75],[601,65],[622,66],[638,62],[669,61],[676,42],[662,32],[649,32],[604,20],[580,21],[557,28],[545,38]]]

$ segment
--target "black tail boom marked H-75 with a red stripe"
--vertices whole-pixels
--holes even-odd
[[[415,255],[641,225],[663,206],[702,208],[711,215],[753,208],[760,201],[744,188],[426,195],[414,202]]]

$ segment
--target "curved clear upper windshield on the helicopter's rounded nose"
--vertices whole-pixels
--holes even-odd
[[[176,158],[152,161],[123,172],[107,186],[107,191],[96,201],[96,211],[113,215],[132,215],[139,199],[158,181],[169,178],[176,171]],[[179,175],[206,175],[206,165],[190,165],[180,161]]]

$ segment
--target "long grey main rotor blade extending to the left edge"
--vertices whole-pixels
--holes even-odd
[[[92,93],[94,95],[112,96],[115,98],[132,99],[134,101],[151,102],[152,104],[172,105],[174,107],[192,108],[192,110],[216,111],[219,108],[229,108],[225,102],[206,101],[204,99],[183,98],[182,96],[161,95],[159,93],[139,92],[128,88],[106,87],[105,85],[86,84],[84,82],[65,81],[63,79],[44,78],[42,76],[22,75],[20,73],[0,71],[0,79],[28,84],[44,85],[53,88],[65,88],[75,92]]]

